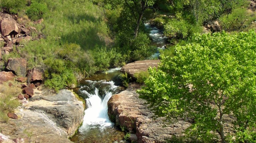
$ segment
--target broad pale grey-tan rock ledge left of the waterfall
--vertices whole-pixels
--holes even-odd
[[[69,90],[57,94],[42,88],[23,101],[16,111],[18,119],[0,123],[2,134],[10,139],[23,138],[26,142],[72,143],[68,138],[75,134],[83,121],[84,106]]]

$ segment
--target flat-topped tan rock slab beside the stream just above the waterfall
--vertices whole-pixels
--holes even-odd
[[[123,73],[127,73],[128,76],[135,79],[134,74],[139,73],[141,71],[147,71],[149,67],[158,67],[160,60],[144,60],[144,61],[136,61],[134,63],[126,64],[120,70]]]

